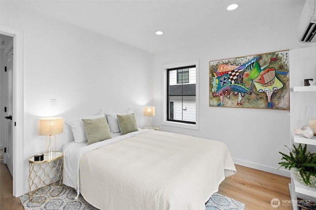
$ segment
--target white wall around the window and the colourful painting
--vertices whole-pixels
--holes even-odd
[[[235,163],[284,176],[289,172],[277,170],[278,151],[286,152],[290,144],[289,111],[209,107],[209,61],[293,49],[301,44],[296,38],[296,21],[275,26],[253,26],[249,31],[232,33],[222,39],[188,45],[182,49],[154,55],[154,105],[156,117],[153,124],[161,130],[218,140],[226,143]],[[242,27],[242,24],[241,24]],[[190,27],[188,27],[190,28]],[[216,29],[214,29],[216,31]],[[253,31],[256,31],[254,33]],[[199,60],[199,130],[161,125],[161,65]],[[290,58],[291,59],[291,58]],[[291,71],[297,69],[290,69]]]

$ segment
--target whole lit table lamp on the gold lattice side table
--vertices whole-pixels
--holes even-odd
[[[64,129],[64,119],[60,117],[40,118],[39,135],[46,136],[45,152],[56,151],[56,134],[60,134]]]

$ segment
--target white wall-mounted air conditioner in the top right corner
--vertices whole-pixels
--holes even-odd
[[[300,42],[316,42],[316,0],[306,0],[298,22],[298,37]]]

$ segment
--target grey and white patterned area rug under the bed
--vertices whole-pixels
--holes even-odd
[[[53,190],[53,189],[48,189]],[[75,200],[77,192],[74,188],[64,185],[63,191],[56,197],[43,202],[32,203],[29,201],[28,193],[20,196],[25,210],[98,210],[88,204],[81,194]],[[45,200],[45,196],[40,197]],[[229,197],[214,193],[205,205],[205,210],[243,210],[244,204]]]

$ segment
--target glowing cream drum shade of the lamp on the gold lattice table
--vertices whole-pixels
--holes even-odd
[[[40,118],[39,135],[52,136],[64,131],[64,119],[60,117]]]

